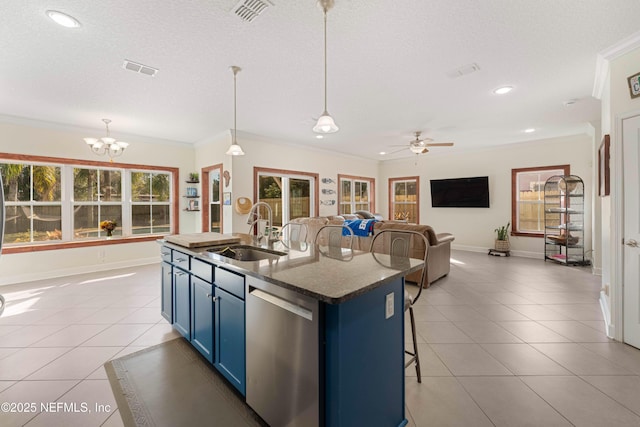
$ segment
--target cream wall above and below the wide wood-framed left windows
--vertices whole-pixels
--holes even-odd
[[[93,154],[82,140],[86,136],[100,136],[103,132],[51,123],[5,120],[0,122],[0,152],[104,160]],[[182,182],[194,170],[194,149],[189,145],[119,135],[116,132],[113,132],[113,136],[131,144],[124,155],[118,158],[122,163],[177,167]],[[182,184],[180,189],[184,189]],[[179,220],[181,233],[195,231],[194,218],[189,216],[189,212],[181,210]],[[0,257],[0,285],[156,262],[158,255],[155,242],[3,254]]]

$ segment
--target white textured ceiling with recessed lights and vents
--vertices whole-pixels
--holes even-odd
[[[640,16],[638,0],[336,0],[328,106],[340,131],[317,140],[322,12],[273,2],[247,23],[230,12],[237,0],[3,0],[0,114],[96,132],[110,118],[115,136],[196,143],[233,126],[238,65],[238,130],[274,141],[384,159],[416,130],[456,144],[432,152],[575,134],[600,119],[597,53]],[[82,26],[60,27],[47,9]],[[470,63],[480,71],[447,76]]]

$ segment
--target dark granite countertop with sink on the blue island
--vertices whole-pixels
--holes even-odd
[[[418,271],[422,260],[396,258],[344,248],[328,248],[305,242],[281,241],[267,245],[249,235],[234,234],[241,244],[285,253],[260,261],[238,261],[208,252],[212,248],[186,248],[161,240],[167,247],[202,261],[294,290],[329,304],[340,304],[392,280]],[[263,239],[264,240],[264,239]],[[217,247],[222,249],[223,247]]]

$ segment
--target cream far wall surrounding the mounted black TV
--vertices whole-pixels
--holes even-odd
[[[585,183],[585,224],[591,224],[592,138],[588,135],[554,138],[504,145],[476,152],[429,153],[417,158],[388,161],[380,167],[380,187],[388,179],[420,176],[420,223],[431,225],[436,233],[456,236],[453,247],[486,251],[493,247],[494,230],[511,221],[511,169],[570,164],[571,173]],[[417,163],[417,164],[416,164]],[[489,177],[490,208],[432,208],[430,179]],[[388,215],[388,205],[379,210]],[[382,201],[382,200],[381,200]],[[585,230],[585,242],[591,242],[591,230]],[[591,249],[590,247],[587,250]],[[541,238],[511,237],[514,255],[543,259]]]

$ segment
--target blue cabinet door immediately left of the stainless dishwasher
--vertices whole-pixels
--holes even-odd
[[[214,366],[244,396],[246,394],[244,301],[216,287],[215,314]]]

